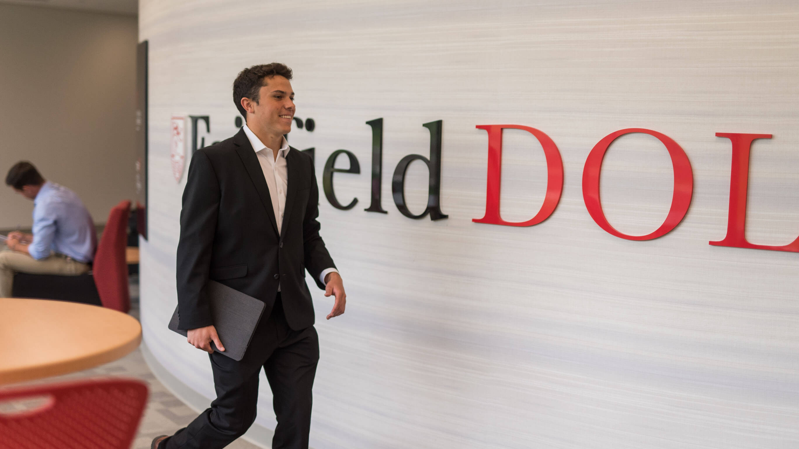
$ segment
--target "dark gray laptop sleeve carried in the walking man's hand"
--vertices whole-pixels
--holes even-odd
[[[211,342],[211,348],[214,351],[219,351],[223,356],[241,360],[252,340],[252,333],[258,326],[266,304],[215,280],[209,280],[205,288],[209,300],[211,300],[213,326],[217,328],[217,335],[225,345],[225,351],[219,351],[213,342]],[[178,320],[177,308],[175,308],[172,320],[169,320],[169,329],[181,336],[186,336],[187,331],[177,328]]]

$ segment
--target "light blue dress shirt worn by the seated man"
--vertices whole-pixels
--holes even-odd
[[[36,260],[58,252],[87,264],[94,260],[97,232],[81,199],[72,190],[46,181],[34,199],[34,241],[28,252]]]

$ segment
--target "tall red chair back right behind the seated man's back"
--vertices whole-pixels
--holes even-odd
[[[97,244],[92,268],[103,307],[124,313],[130,311],[128,263],[125,260],[129,213],[130,201],[127,200],[111,209],[100,244]]]

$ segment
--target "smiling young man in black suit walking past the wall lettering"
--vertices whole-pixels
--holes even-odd
[[[295,110],[291,79],[279,63],[242,70],[233,101],[246,125],[192,156],[177,245],[178,327],[209,352],[217,399],[175,435],[154,439],[153,448],[212,449],[243,435],[255,420],[262,367],[277,417],[272,447],[308,447],[319,340],[305,270],[325,296],[336,296],[328,320],[344,313],[346,295],[319,235],[312,159],[284,138]],[[213,341],[225,351],[205,296],[209,279],[266,304],[240,362],[211,348]]]

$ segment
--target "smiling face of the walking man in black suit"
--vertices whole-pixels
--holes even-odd
[[[294,119],[294,90],[292,83],[285,77],[275,75],[264,78],[260,87],[258,102],[252,102],[255,113],[248,113],[248,124],[252,117],[252,125],[264,133],[272,135],[288,134],[292,130]]]

